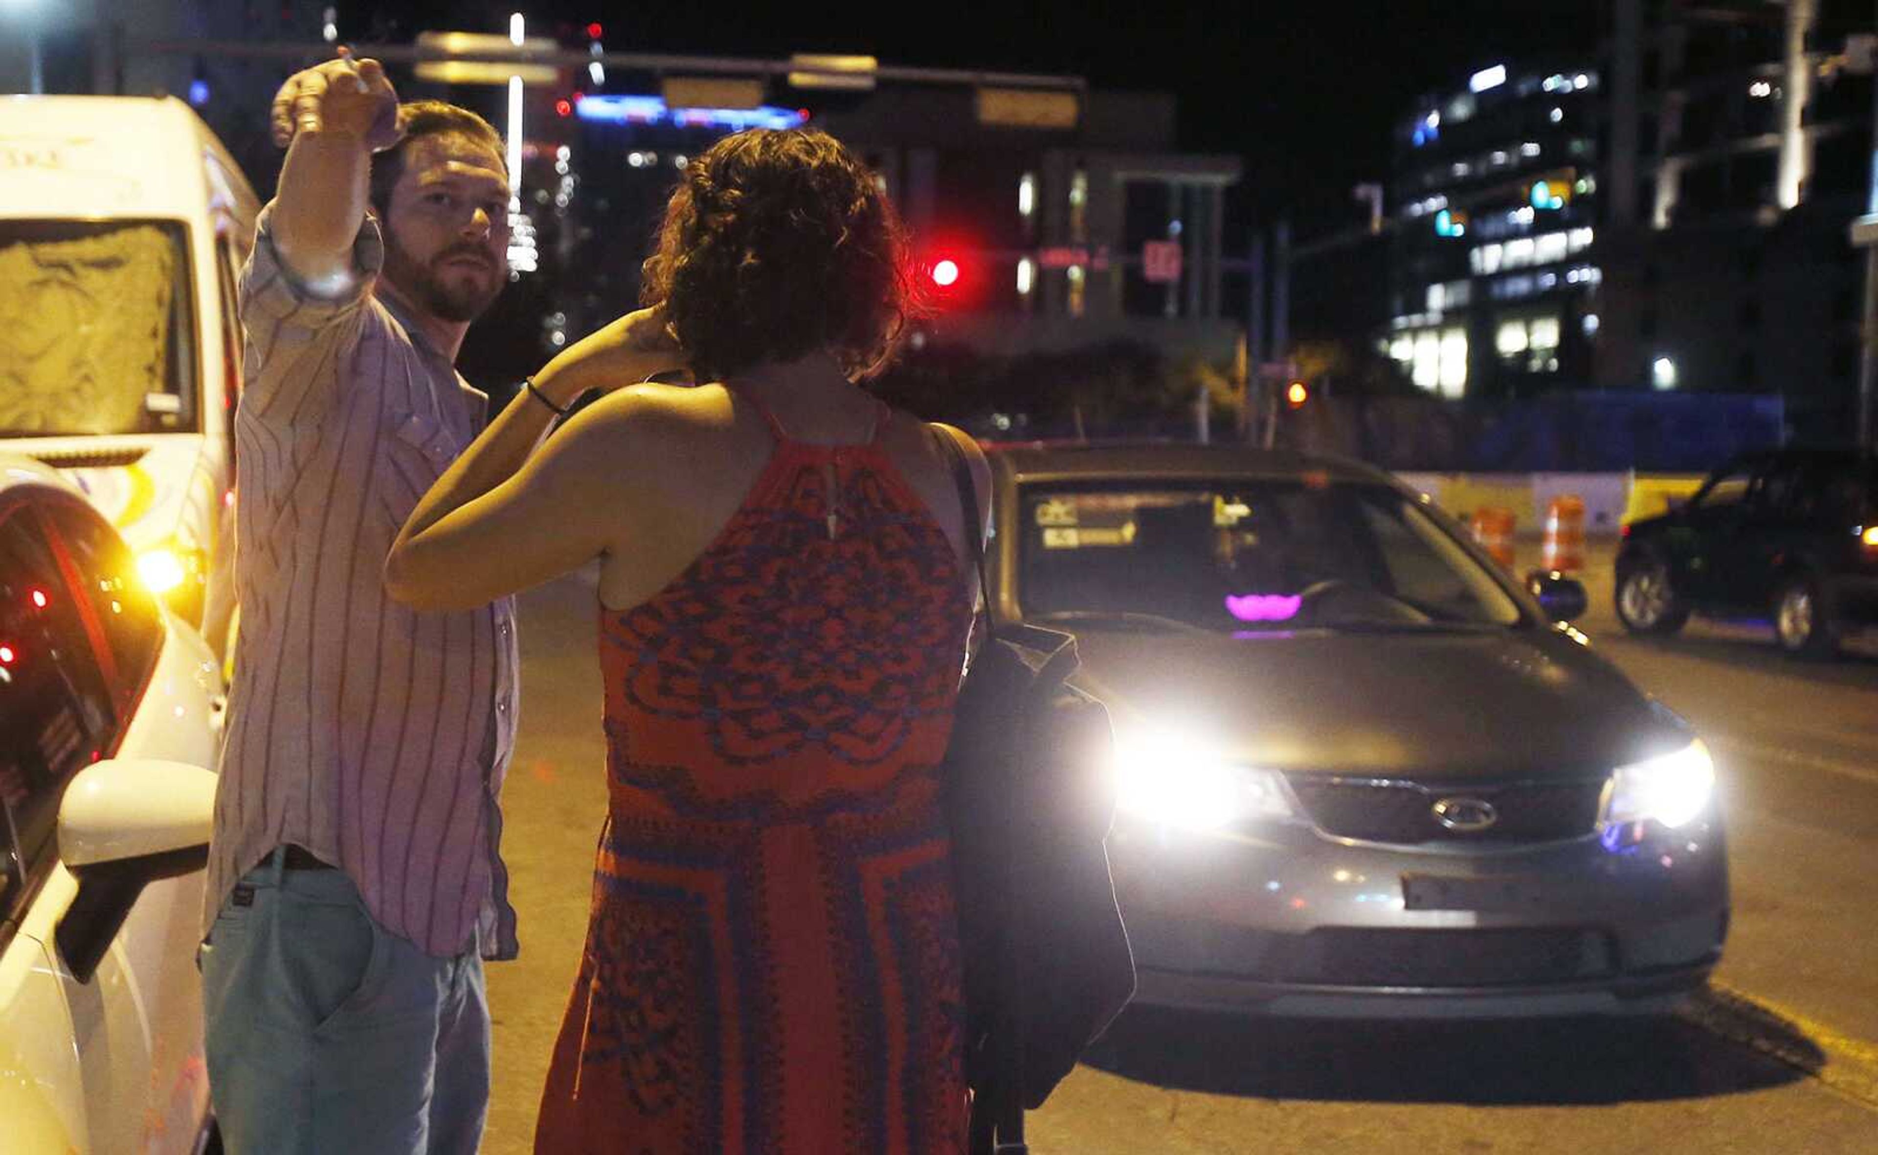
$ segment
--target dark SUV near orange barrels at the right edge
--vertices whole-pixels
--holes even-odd
[[[1615,601],[1632,633],[1771,616],[1782,650],[1831,655],[1878,622],[1878,466],[1824,449],[1732,460],[1685,507],[1624,526]]]

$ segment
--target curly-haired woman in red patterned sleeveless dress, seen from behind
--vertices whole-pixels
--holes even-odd
[[[393,590],[434,607],[601,563],[610,802],[537,1151],[965,1147],[937,768],[982,526],[933,430],[990,479],[858,385],[911,284],[832,137],[719,141],[670,199],[648,308],[515,406],[612,393],[533,453],[498,419],[393,550]],[[676,362],[700,385],[622,387]]]

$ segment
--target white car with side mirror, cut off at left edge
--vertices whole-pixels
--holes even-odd
[[[0,453],[0,1149],[193,1155],[220,667],[51,468]]]

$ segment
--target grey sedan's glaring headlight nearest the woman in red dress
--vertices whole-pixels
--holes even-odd
[[[1208,742],[1178,731],[1116,738],[1116,806],[1151,823],[1193,830],[1296,817],[1277,774],[1239,766]]]

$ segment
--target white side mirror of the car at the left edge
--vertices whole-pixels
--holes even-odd
[[[90,982],[143,888],[208,864],[216,776],[186,762],[109,759],[81,770],[58,804],[58,856],[79,881],[58,952]]]

